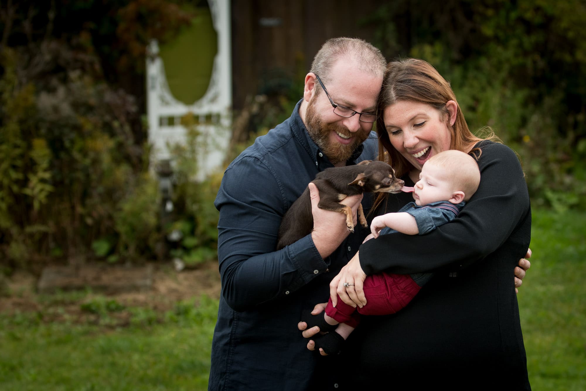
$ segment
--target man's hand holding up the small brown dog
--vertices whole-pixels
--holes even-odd
[[[319,208],[319,190],[314,183],[309,183],[309,194],[311,213],[314,215],[314,230],[311,231],[311,237],[319,255],[326,258],[342,244],[350,233],[346,227],[346,215]],[[340,204],[352,208],[354,225],[357,223],[356,210],[361,201],[362,194],[352,195],[340,201]]]

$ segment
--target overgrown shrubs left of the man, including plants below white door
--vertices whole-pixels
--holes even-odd
[[[42,55],[51,53],[74,55],[58,42],[43,48]],[[135,143],[128,121],[137,110],[134,99],[76,69],[43,78],[43,90],[38,80],[22,86],[15,77],[22,53],[4,54],[0,251],[5,259],[23,265],[39,254],[109,262],[155,258],[166,255],[158,248],[172,231],[181,235],[171,255],[186,264],[216,257],[213,200],[222,177],[195,180],[197,156],[209,146],[189,116],[186,143],[173,149],[176,219],[162,225],[158,180],[147,170],[148,148]]]

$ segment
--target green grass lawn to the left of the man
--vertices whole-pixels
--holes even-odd
[[[0,390],[206,390],[217,301],[134,312],[124,328],[0,318]]]

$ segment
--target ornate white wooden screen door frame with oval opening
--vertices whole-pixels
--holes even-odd
[[[173,160],[167,146],[185,142],[186,129],[180,125],[180,118],[187,113],[193,113],[196,118],[199,117],[200,123],[197,125],[201,133],[198,144],[205,146],[198,156],[197,179],[202,179],[206,173],[220,168],[229,143],[231,125],[230,0],[207,2],[217,33],[217,54],[209,87],[201,99],[186,105],[173,97],[156,41],[149,45],[147,58],[148,139],[153,146],[151,163]]]

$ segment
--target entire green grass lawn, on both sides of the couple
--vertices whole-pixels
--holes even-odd
[[[532,267],[518,297],[534,390],[586,389],[584,221],[574,211],[533,213]],[[165,314],[134,308],[124,327],[107,299],[86,310],[100,322],[0,314],[0,389],[207,389],[217,301],[182,302]]]

